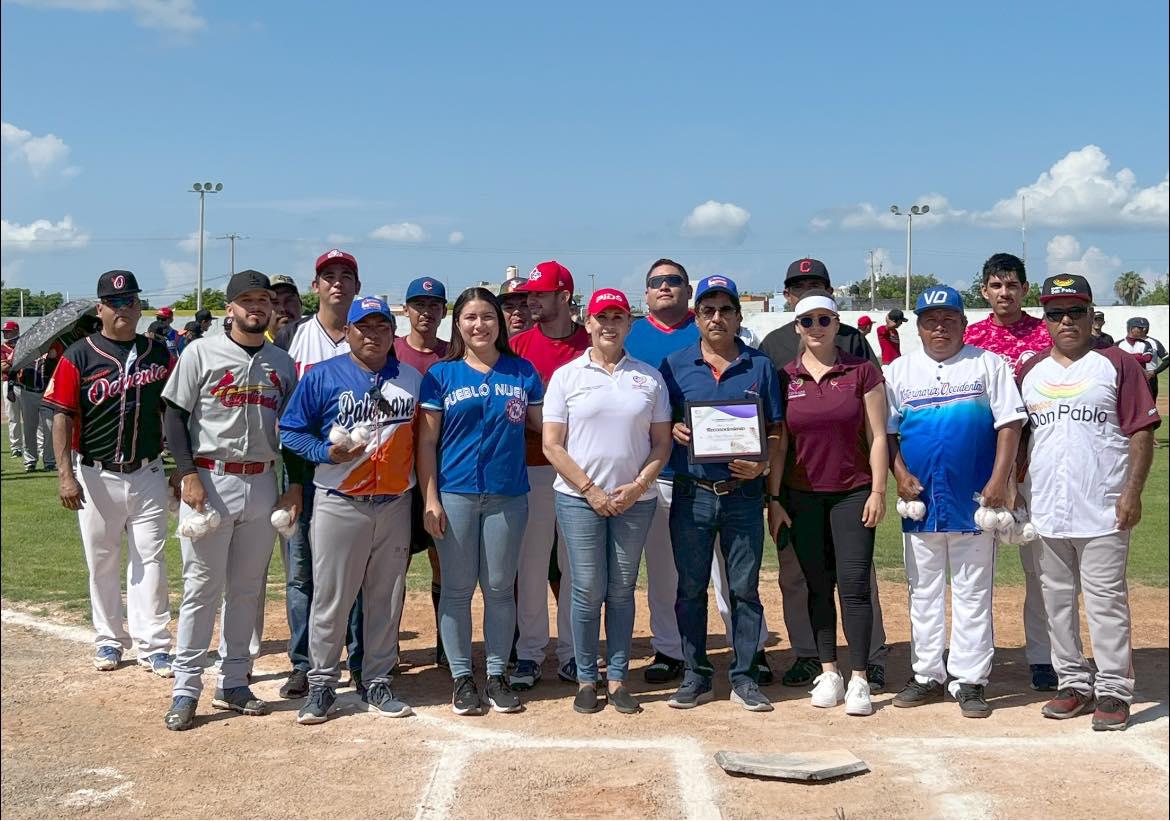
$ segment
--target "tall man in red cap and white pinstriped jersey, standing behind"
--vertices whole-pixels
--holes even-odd
[[[317,257],[316,272],[310,285],[319,298],[317,312],[285,324],[276,333],[276,346],[284,349],[296,364],[297,374],[332,357],[350,352],[345,338],[345,320],[353,296],[362,287],[358,261],[352,254],[332,248]],[[311,465],[307,469],[311,471]],[[288,539],[284,557],[287,588],[284,603],[289,619],[289,661],[292,672],[281,687],[281,698],[303,698],[309,695],[309,610],[312,607],[312,551],[309,545],[309,520],[312,517],[314,484],[311,475],[304,476],[304,506],[296,532]],[[360,601],[360,594],[359,594]],[[355,606],[356,616],[359,613]],[[353,621],[350,632],[353,632]],[[352,635],[351,635],[352,639]],[[360,653],[350,642],[350,675],[357,671],[355,684],[360,683]]]

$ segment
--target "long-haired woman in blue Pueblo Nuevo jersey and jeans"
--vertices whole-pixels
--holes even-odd
[[[472,595],[483,593],[487,703],[517,712],[504,678],[516,629],[516,565],[528,523],[524,426],[541,427],[544,388],[508,346],[503,312],[483,288],[463,291],[452,313],[447,358],[422,378],[417,463],[424,524],[442,573],[439,630],[454,679],[452,710],[479,715],[472,677]]]

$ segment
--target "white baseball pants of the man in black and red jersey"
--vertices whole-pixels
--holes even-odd
[[[166,476],[156,460],[132,474],[87,468],[74,456],[85,494],[77,511],[89,567],[95,643],[119,650],[137,644],[139,656],[171,648],[166,587]],[[126,536],[126,627],[122,620],[122,534]]]

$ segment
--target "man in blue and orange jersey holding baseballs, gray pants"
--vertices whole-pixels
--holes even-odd
[[[358,591],[365,620],[359,692],[370,712],[393,718],[412,712],[390,685],[406,596],[422,374],[393,356],[394,316],[381,299],[355,299],[345,336],[350,353],[314,367],[281,420],[285,448],[316,464],[312,668],[300,724],[319,724],[332,712]],[[337,430],[344,441],[336,441]]]

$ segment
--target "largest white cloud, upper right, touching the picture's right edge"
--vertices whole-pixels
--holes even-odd
[[[1109,158],[1096,145],[1071,151],[1035,182],[976,214],[975,221],[992,227],[1019,225],[1023,196],[1030,226],[1165,230],[1170,225],[1170,175],[1156,186],[1140,188],[1133,171],[1122,168],[1110,174],[1109,165]]]

